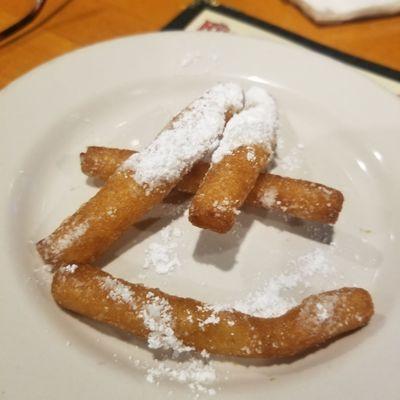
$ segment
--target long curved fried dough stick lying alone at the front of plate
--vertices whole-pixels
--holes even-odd
[[[61,307],[148,339],[152,348],[181,343],[190,350],[239,357],[301,354],[366,325],[374,312],[371,296],[359,288],[307,297],[277,318],[217,312],[199,301],[115,279],[88,265],[60,268],[52,294]]]

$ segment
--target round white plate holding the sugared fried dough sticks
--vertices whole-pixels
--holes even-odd
[[[243,213],[242,227],[226,236],[200,232],[180,217],[172,224],[184,232],[177,250],[182,266],[160,276],[142,265],[145,249],[160,241],[160,228],[170,222],[162,219],[133,230],[107,271],[214,302],[240,297],[298,257],[320,251],[336,273],[316,276],[307,293],[363,286],[376,304],[371,324],[288,364],[215,361],[217,395],[397,398],[399,100],[306,50],[197,33],[151,34],[84,48],[0,93],[3,398],[193,396],[187,385],[147,383],[132,360],[154,361],[139,342],[61,311],[51,300],[33,243],[95,193],[80,172],[80,151],[90,144],[148,143],[174,112],[220,80],[265,85],[276,97],[280,156],[290,161],[285,170],[278,160],[277,171],[281,165],[282,173],[343,191],[336,245],[310,239],[310,224],[291,226],[254,210]],[[329,236],[328,230],[322,233]]]

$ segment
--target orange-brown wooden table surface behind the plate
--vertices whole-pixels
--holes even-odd
[[[35,66],[101,40],[158,31],[193,0],[48,0],[39,17],[0,42],[0,88]],[[0,0],[0,29],[34,0]],[[318,26],[285,0],[222,0],[287,30],[400,70],[400,15]]]

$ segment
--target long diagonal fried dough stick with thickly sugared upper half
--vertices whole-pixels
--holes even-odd
[[[92,199],[37,244],[43,260],[54,266],[95,260],[214,149],[226,119],[242,104],[238,85],[219,84],[206,91],[143,152],[129,157]]]

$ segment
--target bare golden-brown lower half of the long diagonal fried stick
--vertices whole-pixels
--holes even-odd
[[[113,174],[94,197],[37,243],[46,263],[60,266],[93,261],[174,187],[165,184],[147,193],[131,174]]]

